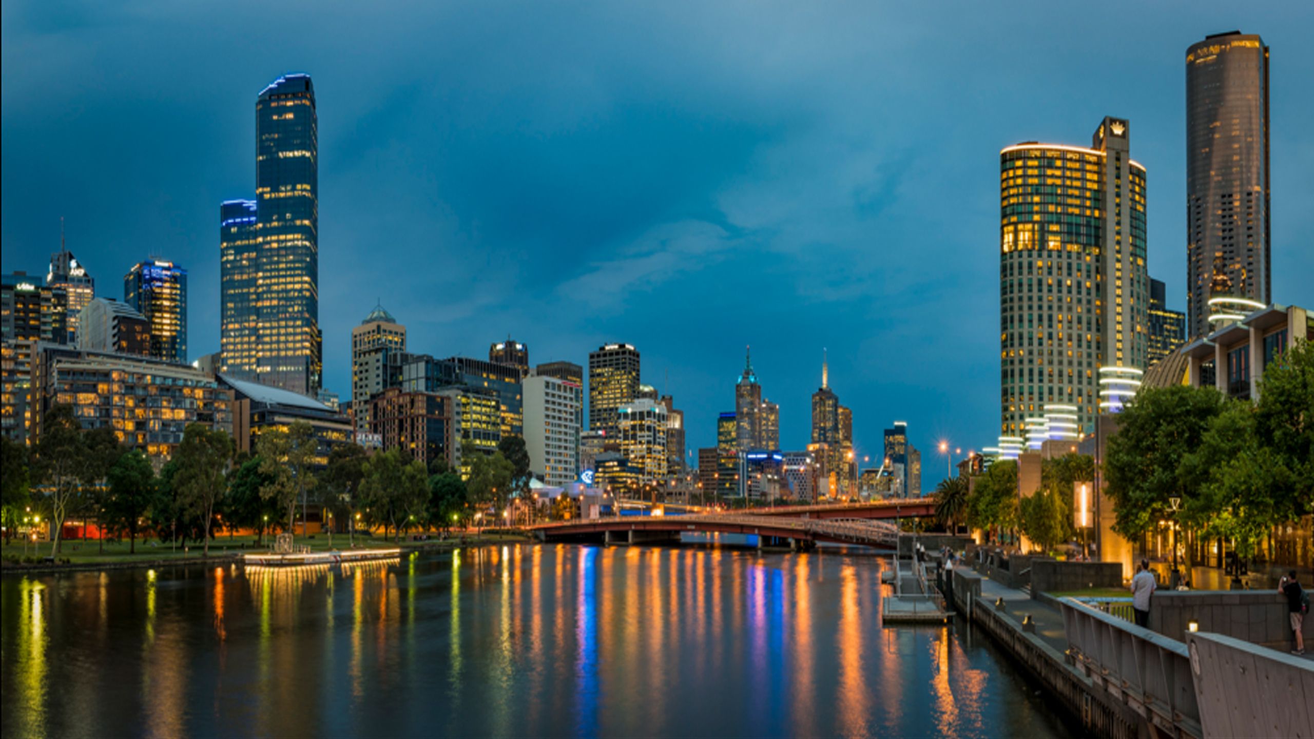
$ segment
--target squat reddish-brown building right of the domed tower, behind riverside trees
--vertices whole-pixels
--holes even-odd
[[[381,448],[399,448],[424,464],[444,459],[456,465],[456,419],[448,396],[402,392],[385,388],[369,398],[368,431],[381,441]],[[359,422],[355,425],[360,430]]]

